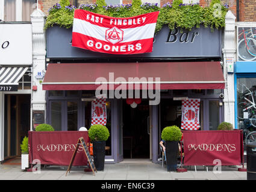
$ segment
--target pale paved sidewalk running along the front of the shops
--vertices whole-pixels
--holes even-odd
[[[0,180],[246,180],[246,172],[237,167],[223,166],[221,173],[213,167],[208,172],[203,166],[186,167],[187,172],[167,172],[166,165],[155,163],[117,163],[105,164],[104,171],[84,172],[85,167],[72,167],[69,173],[66,166],[42,167],[39,174],[24,172],[20,166],[0,164]]]

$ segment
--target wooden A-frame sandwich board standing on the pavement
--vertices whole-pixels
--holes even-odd
[[[72,164],[73,164],[73,160],[75,160],[75,155],[76,155],[80,145],[83,146],[84,153],[86,154],[86,157],[87,157],[87,160],[88,160],[88,162],[90,164],[90,167],[92,169],[93,175],[95,176],[95,172],[97,172],[97,170],[96,170],[95,164],[93,163],[92,156],[90,155],[90,152],[89,152],[89,150],[87,148],[86,142],[84,142],[84,137],[80,137],[78,139],[75,151],[73,152],[72,159],[70,160],[69,167],[67,168],[67,172],[70,172],[70,169],[71,169]],[[66,172],[66,176],[67,176],[67,172]]]

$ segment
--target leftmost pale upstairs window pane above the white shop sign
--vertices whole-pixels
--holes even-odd
[[[16,0],[4,0],[5,22],[16,21]]]

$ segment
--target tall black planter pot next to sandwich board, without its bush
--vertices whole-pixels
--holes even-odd
[[[93,142],[93,163],[96,170],[104,170],[105,141]]]

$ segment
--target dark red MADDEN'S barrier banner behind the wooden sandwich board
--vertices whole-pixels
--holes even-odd
[[[29,131],[28,146],[30,163],[69,166],[80,137],[89,142],[88,131]],[[35,163],[34,163],[35,164]],[[86,166],[87,157],[83,146],[78,148],[73,166]]]

